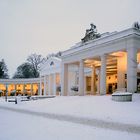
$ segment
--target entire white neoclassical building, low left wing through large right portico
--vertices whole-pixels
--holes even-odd
[[[40,78],[22,82],[0,80],[0,89],[21,84],[20,90],[24,91],[27,83],[31,95],[140,92],[140,26],[134,24],[132,28],[104,34],[97,34],[95,27],[91,24],[81,42],[62,52],[61,58],[50,57],[41,66]],[[16,89],[14,85],[9,91]]]

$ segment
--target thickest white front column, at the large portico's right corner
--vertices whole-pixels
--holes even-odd
[[[127,49],[127,91],[137,91],[137,48]]]

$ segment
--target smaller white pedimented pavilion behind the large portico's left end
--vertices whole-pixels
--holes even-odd
[[[50,57],[40,68],[40,94],[42,95],[60,95],[61,87],[61,65],[62,60],[57,57]],[[71,65],[69,67],[69,85],[68,92],[71,87],[77,86],[78,67]],[[42,90],[43,89],[43,90]]]

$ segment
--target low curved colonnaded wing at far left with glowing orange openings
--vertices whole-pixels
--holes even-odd
[[[40,95],[40,78],[0,79],[1,96]],[[15,94],[14,94],[15,93]]]

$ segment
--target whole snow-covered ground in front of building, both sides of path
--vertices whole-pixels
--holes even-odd
[[[15,109],[6,110],[4,108]],[[25,112],[19,112],[25,110]],[[26,111],[30,111],[28,113]],[[53,114],[51,117],[41,117],[32,112]],[[109,129],[101,124],[85,125],[89,123],[77,123],[75,118],[65,118],[63,115],[76,118],[95,119],[111,122]],[[44,116],[44,115],[42,115]],[[62,119],[56,119],[60,117]],[[70,121],[66,121],[73,119]],[[79,121],[79,120],[78,120]],[[133,132],[123,130],[122,126],[113,129],[113,122],[130,125],[138,129]],[[96,124],[95,122],[93,124]],[[126,125],[129,124],[129,125]],[[96,126],[96,127],[95,127]],[[120,130],[119,130],[120,128]],[[140,94],[134,94],[132,102],[115,102],[111,96],[58,96],[40,100],[31,100],[15,104],[5,102],[0,98],[0,140],[139,140],[140,139]]]

